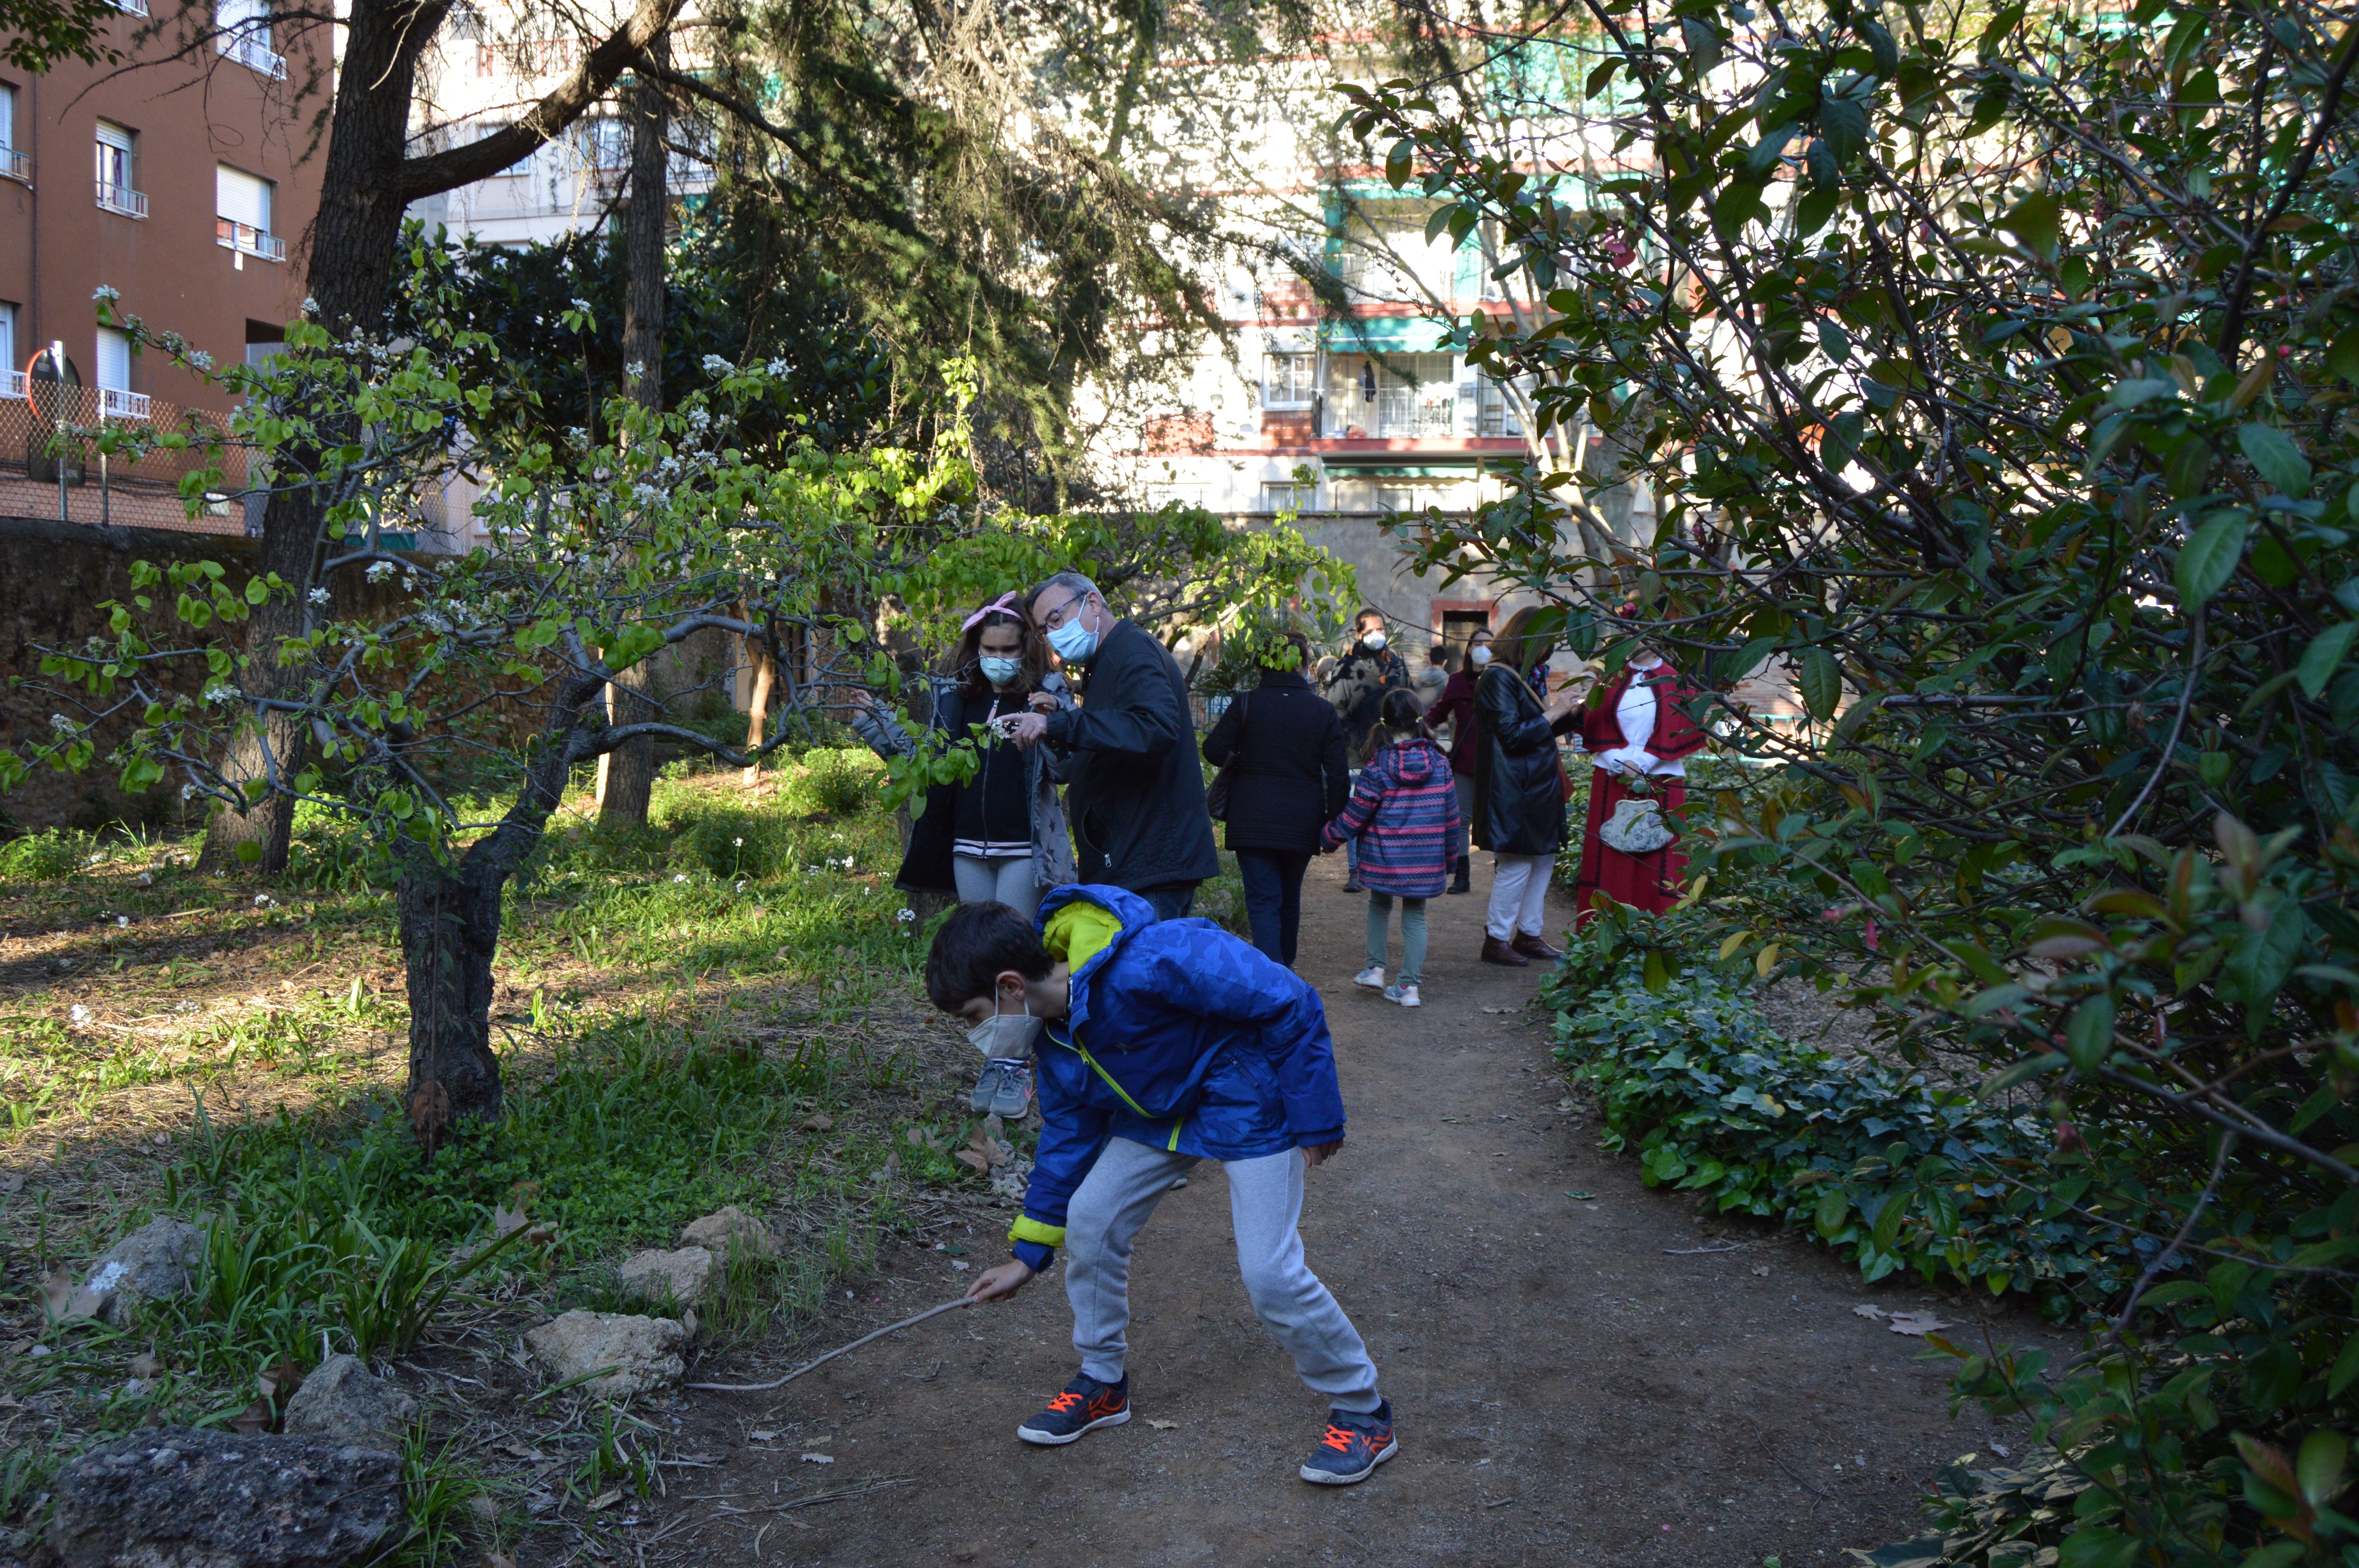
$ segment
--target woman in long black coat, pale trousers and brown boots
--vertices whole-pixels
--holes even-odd
[[[1491,908],[1484,917],[1481,962],[1522,969],[1562,957],[1540,927],[1548,884],[1564,849],[1564,764],[1557,736],[1581,724],[1581,703],[1540,703],[1531,672],[1548,663],[1555,639],[1538,630],[1550,611],[1522,608],[1491,644],[1491,663],[1474,681],[1474,842],[1498,856]]]

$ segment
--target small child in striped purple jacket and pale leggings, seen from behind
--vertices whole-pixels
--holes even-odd
[[[1425,979],[1425,901],[1448,887],[1451,837],[1458,832],[1458,785],[1451,759],[1425,738],[1415,693],[1387,691],[1387,743],[1368,757],[1342,816],[1321,842],[1335,849],[1359,839],[1359,879],[1368,889],[1368,967],[1354,981],[1382,990],[1387,1002],[1420,1007]],[[1401,901],[1401,969],[1385,983],[1392,941],[1392,901]]]

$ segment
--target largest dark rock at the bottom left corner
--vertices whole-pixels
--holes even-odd
[[[401,1523],[401,1460],[333,1438],[142,1427],[57,1478],[68,1568],[344,1568]]]

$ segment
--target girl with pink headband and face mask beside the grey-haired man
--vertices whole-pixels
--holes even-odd
[[[911,823],[894,884],[955,894],[960,903],[1005,903],[1031,920],[1040,896],[1073,882],[1076,872],[1064,806],[1057,804],[1064,759],[1045,750],[1026,752],[1007,731],[1036,698],[1050,710],[1071,710],[1073,691],[1047,667],[1047,648],[1017,594],[1000,594],[967,615],[948,670],[929,684],[934,717],[927,729],[962,740],[970,726],[981,724],[974,743],[979,766],[965,783],[925,792],[925,811]],[[875,703],[854,710],[852,729],[887,759],[918,745]],[[1021,1049],[984,1052],[970,1103],[979,1113],[1024,1115],[1031,1103],[1029,1040]]]

